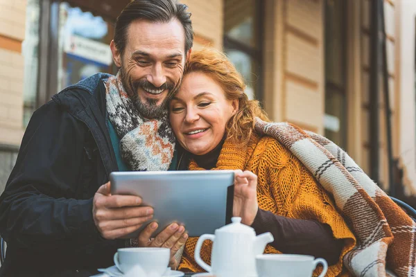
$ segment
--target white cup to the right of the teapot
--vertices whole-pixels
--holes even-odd
[[[258,277],[311,277],[316,266],[324,269],[319,277],[325,276],[328,270],[327,261],[313,256],[292,254],[263,254],[256,256]]]

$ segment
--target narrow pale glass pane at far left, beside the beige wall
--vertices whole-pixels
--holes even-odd
[[[28,0],[26,6],[26,30],[22,44],[24,56],[24,82],[23,82],[23,125],[28,125],[29,119],[36,108],[37,71],[39,60],[39,19],[40,0]]]

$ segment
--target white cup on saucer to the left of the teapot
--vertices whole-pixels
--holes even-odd
[[[146,272],[146,276],[160,277],[168,268],[170,256],[171,250],[168,248],[120,248],[114,254],[114,264],[123,274],[139,265]]]

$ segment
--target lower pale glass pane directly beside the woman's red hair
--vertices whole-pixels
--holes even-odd
[[[245,93],[248,95],[248,98],[254,99],[257,83],[259,82],[258,74],[255,73],[257,71],[257,62],[242,51],[227,48],[224,51],[229,60],[236,66],[237,71],[243,75],[247,86],[245,87]]]

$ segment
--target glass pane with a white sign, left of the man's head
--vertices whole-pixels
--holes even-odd
[[[114,73],[112,22],[66,2],[59,12],[58,91],[98,72]]]

